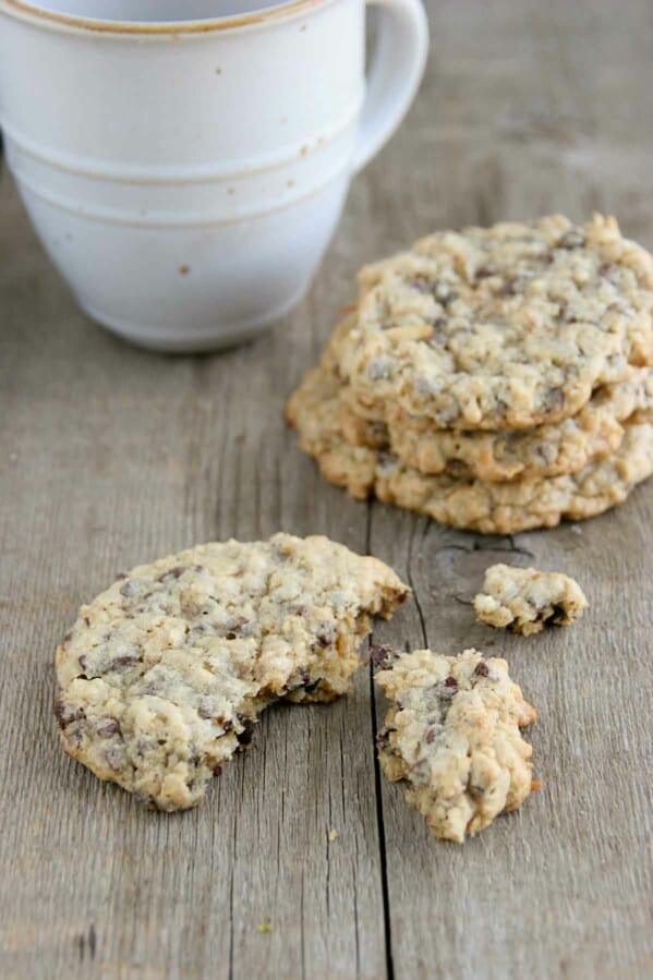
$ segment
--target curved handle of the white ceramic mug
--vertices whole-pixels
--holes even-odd
[[[382,15],[354,149],[354,173],[376,156],[408,112],[428,53],[428,22],[421,0],[367,0],[372,4],[380,8]]]

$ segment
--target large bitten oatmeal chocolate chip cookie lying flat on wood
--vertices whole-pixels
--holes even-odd
[[[134,568],[57,651],[63,748],[161,810],[199,803],[279,698],[350,689],[372,617],[409,590],[326,537],[211,543]]]

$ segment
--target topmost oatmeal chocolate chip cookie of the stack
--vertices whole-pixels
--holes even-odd
[[[653,362],[653,258],[614,218],[444,231],[364,268],[337,361],[358,414],[530,428]]]

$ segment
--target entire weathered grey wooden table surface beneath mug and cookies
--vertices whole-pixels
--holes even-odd
[[[93,326],[2,171],[3,978],[653,973],[653,482],[579,527],[483,537],[350,500],[282,423],[356,268],[418,234],[596,208],[653,247],[650,0],[428,9],[414,109],[354,181],[309,299],[250,346],[169,358]],[[331,706],[268,711],[192,812],[148,812],[63,754],[52,655],[77,606],[133,564],[278,529],[411,583],[376,641],[505,651],[540,710],[543,786],[520,812],[462,847],[433,840],[379,776],[366,669]],[[578,577],[591,612],[529,641],[492,633],[469,598],[496,560]]]

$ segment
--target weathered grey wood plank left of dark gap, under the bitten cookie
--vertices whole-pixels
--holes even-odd
[[[153,356],[84,320],[7,176],[0,193],[2,975],[383,976],[364,675],[329,709],[270,711],[205,804],[169,818],[68,760],[51,716],[55,645],[121,569],[278,528],[364,549],[364,516],[282,424],[347,259],[286,332]]]

